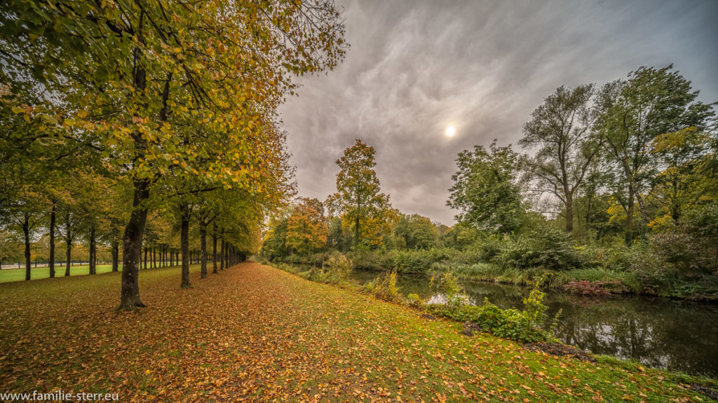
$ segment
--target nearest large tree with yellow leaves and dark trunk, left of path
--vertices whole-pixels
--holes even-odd
[[[256,151],[271,134],[262,118],[274,118],[293,75],[332,68],[346,49],[340,12],[322,0],[30,0],[5,8],[0,27],[0,62],[14,66],[4,78],[46,87],[63,106],[47,110],[47,121],[126,169],[133,196],[121,308],[144,306],[137,262],[151,184],[176,169],[178,157],[230,142],[231,151],[198,174],[261,193],[256,179],[267,164]],[[213,130],[200,143],[180,143],[174,129],[187,121]]]

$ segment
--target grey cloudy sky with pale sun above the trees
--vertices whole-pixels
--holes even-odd
[[[674,67],[718,101],[718,1],[337,0],[351,44],[281,108],[300,196],[335,191],[355,138],[376,148],[393,207],[444,224],[457,153],[516,143],[559,85]],[[447,126],[453,138],[444,136]]]

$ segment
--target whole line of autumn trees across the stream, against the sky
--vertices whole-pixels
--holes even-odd
[[[650,242],[671,250],[673,263],[712,272],[718,136],[712,105],[697,97],[672,66],[641,67],[602,87],[557,88],[523,126],[526,153],[494,141],[459,154],[447,205],[460,214],[451,228],[392,209],[373,148],[357,141],[337,161],[337,193],[324,204],[300,199],[266,234],[264,253],[462,248],[496,235],[541,237],[553,222],[574,241]]]

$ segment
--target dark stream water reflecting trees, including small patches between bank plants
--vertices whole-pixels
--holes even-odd
[[[376,278],[353,272],[357,283]],[[429,278],[398,275],[404,294],[429,295]],[[501,308],[521,308],[528,290],[510,285],[465,282],[470,303],[484,298]],[[439,297],[440,298],[440,297]],[[434,299],[437,300],[437,299]],[[562,310],[556,337],[596,354],[635,359],[648,366],[718,377],[718,305],[643,296],[585,298],[546,293],[549,315]]]

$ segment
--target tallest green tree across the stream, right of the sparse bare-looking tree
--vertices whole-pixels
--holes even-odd
[[[704,128],[713,115],[710,105],[696,101],[691,89],[673,66],[662,69],[640,67],[600,91],[600,115],[596,128],[607,146],[607,162],[614,180],[610,186],[625,211],[625,242],[635,237],[634,212],[638,202],[643,224],[647,212],[643,194],[656,175],[656,158],[651,143],[664,133],[691,126]],[[643,226],[640,228],[643,231]]]

